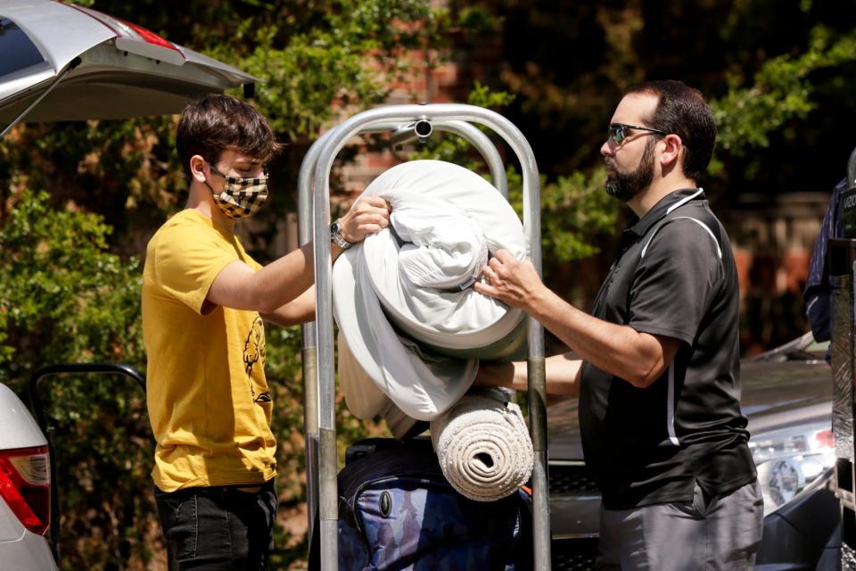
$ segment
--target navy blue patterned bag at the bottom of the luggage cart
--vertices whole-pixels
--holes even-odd
[[[431,441],[370,439],[339,473],[339,569],[531,569],[531,499],[468,500],[446,481]]]

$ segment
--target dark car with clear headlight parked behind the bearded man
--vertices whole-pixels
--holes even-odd
[[[764,498],[759,571],[840,568],[825,352],[806,334],[741,362],[741,405]],[[547,430],[553,569],[589,569],[597,556],[600,493],[582,456],[576,399],[547,409]]]

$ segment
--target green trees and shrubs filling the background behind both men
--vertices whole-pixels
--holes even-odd
[[[579,268],[598,253],[610,257],[623,216],[602,190],[598,149],[630,83],[678,78],[708,95],[720,124],[705,185],[714,200],[759,187],[826,189],[843,174],[853,145],[841,145],[840,132],[856,112],[856,10],[834,1],[497,0],[451,2],[449,10],[426,0],[188,0],[181,10],[158,0],[74,4],[259,77],[259,109],[289,143],[271,165],[274,206],[245,236],[259,261],[274,255],[276,221],[293,210],[300,160],[319,130],[382,103],[391,86],[446,57],[481,78],[470,103],[503,112],[528,137],[542,173],[545,276],[574,299],[597,286],[597,271]],[[493,45],[498,53],[487,62],[471,57]],[[135,256],[184,200],[175,127],[175,117],[27,125],[0,143],[0,381],[21,392],[34,369],[61,361],[144,368]],[[383,137],[376,142],[384,144]],[[485,173],[454,136],[419,153]],[[519,209],[520,174],[509,163]],[[298,513],[297,328],[268,328],[268,379],[283,508]],[[62,567],[146,567],[159,534],[142,392],[119,379],[68,377],[46,381],[45,393],[65,483]],[[337,421],[341,443],[376,430],[342,406]],[[276,566],[300,565],[302,541],[280,531]]]

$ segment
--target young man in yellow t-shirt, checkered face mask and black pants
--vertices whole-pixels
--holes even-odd
[[[178,124],[190,192],[152,236],[143,273],[152,477],[170,568],[260,569],[272,546],[262,319],[314,319],[312,244],[262,267],[234,229],[267,199],[265,165],[279,146],[268,121],[229,95],[188,105]],[[333,225],[333,259],[388,223],[383,199],[358,201]]]

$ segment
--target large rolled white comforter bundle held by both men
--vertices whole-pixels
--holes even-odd
[[[523,228],[496,188],[448,162],[393,167],[363,194],[392,204],[391,228],[333,266],[342,392],[358,418],[432,420],[472,385],[479,359],[524,347],[523,312],[470,287],[490,252],[523,260]]]

